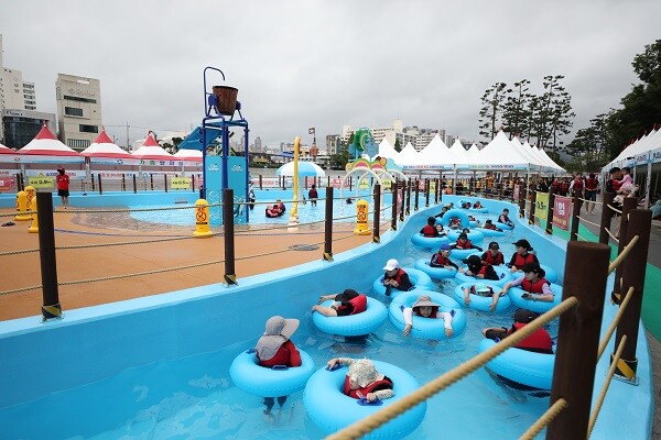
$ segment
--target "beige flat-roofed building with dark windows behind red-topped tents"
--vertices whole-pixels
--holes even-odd
[[[59,140],[83,151],[101,131],[101,87],[98,79],[57,74],[55,82]]]

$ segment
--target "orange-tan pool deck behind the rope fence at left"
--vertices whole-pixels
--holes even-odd
[[[0,213],[14,212],[0,209]],[[2,218],[2,223],[13,221],[15,226],[0,228],[0,250],[2,252],[39,249],[39,234],[29,233],[29,221]],[[76,209],[57,210],[54,213],[56,246],[85,245],[93,243],[111,244],[172,238],[191,237],[194,227],[148,224],[131,219],[126,212],[94,215],[77,213]],[[270,227],[272,228],[272,226]],[[264,274],[306,262],[321,260],[324,245],[324,224],[301,226],[297,232],[288,228],[257,231],[256,227],[235,227],[235,256],[281,253],[237,260],[235,272],[238,282],[241,277]],[[212,228],[221,233],[221,228]],[[333,253],[339,253],[371,242],[371,235],[354,235],[354,223],[334,224]],[[386,229],[383,228],[383,231]],[[342,240],[338,240],[342,239]],[[312,245],[318,249],[289,250],[292,245]],[[76,250],[58,250],[57,279],[59,283],[91,279],[113,275],[159,271],[225,257],[223,237],[163,241],[158,243],[116,245]],[[0,292],[41,285],[39,252],[4,256],[2,261]],[[149,295],[164,294],[189,287],[221,283],[224,263],[195,268],[167,272],[167,283],[163,274],[126,277],[112,280],[82,283],[59,286],[63,311],[80,307],[120,301]],[[41,289],[0,296],[0,320],[24,318],[41,314]]]

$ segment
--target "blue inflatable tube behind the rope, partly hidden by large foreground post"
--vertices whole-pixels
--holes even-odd
[[[495,341],[483,339],[477,351],[483,353],[494,346]],[[494,373],[533,388],[551,389],[555,354],[535,353],[521,349],[507,349],[487,363]]]

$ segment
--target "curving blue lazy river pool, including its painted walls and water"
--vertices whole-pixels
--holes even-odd
[[[0,322],[0,350],[8,360],[0,366],[0,386],[6,391],[0,395],[2,437],[322,438],[324,432],[306,415],[303,392],[292,394],[281,411],[277,406],[274,417],[267,417],[261,400],[238,389],[229,377],[231,361],[253,346],[270,316],[301,319],[292,340],[317,369],[333,356],[369,358],[407,370],[421,384],[474,356],[481,328],[511,323],[513,309],[502,315],[464,309],[466,330],[440,342],[403,338],[389,321],[366,340],[350,341],[322,333],[312,323],[310,309],[319,294],[346,287],[369,292],[389,257],[412,266],[431,255],[411,245],[409,237],[436,210],[414,216],[398,233],[383,234],[377,251],[373,244],[360,246],[336,255],[333,263],[314,262],[250,277],[238,287],[215,285],[72,310],[58,322],[41,324],[36,318]],[[529,239],[541,262],[562,278],[563,250],[535,237],[523,223],[496,239],[506,260],[519,238]],[[445,280],[436,289],[452,296],[455,286],[454,279]],[[605,321],[607,327],[609,320]],[[555,336],[556,322],[549,330]],[[639,360],[639,374],[644,377],[649,361],[644,353]],[[607,362],[597,371],[598,387],[606,367]],[[609,411],[615,414],[622,386],[633,392],[646,388],[611,384],[614,400],[609,406],[607,399],[593,438],[608,438],[605,432],[646,438],[644,410],[627,420],[608,417]],[[643,395],[641,408],[646,402]],[[438,438],[440,433],[443,438],[518,438],[548,405],[548,393],[520,389],[479,369],[432,397],[422,425],[408,438]]]

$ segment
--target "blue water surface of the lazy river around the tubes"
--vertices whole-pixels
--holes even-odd
[[[513,252],[514,234],[497,239],[506,257]],[[486,242],[481,244],[486,246]],[[431,255],[431,251],[410,242],[401,251],[398,257],[404,266]],[[380,272],[366,274],[356,287],[368,290],[379,275]],[[437,289],[452,296],[455,286],[454,280],[445,280],[437,284]],[[323,287],[313,287],[301,295],[312,306],[322,293],[325,293]],[[465,332],[449,341],[407,339],[387,321],[365,342],[347,342],[316,330],[310,312],[300,317],[301,327],[292,339],[311,354],[317,367],[333,356],[365,356],[397,364],[423,384],[474,356],[481,328],[511,324],[511,311],[500,316],[469,309],[465,312],[468,318]],[[555,334],[555,326],[550,331]],[[34,414],[40,415],[42,427],[48,427],[51,439],[322,438],[323,432],[305,413],[302,392],[290,396],[284,408],[268,419],[259,398],[232,385],[228,373],[231,361],[251,348],[258,337],[246,334],[246,342],[218,351],[154,362],[52,393],[0,410],[0,422],[8,438],[21,439],[43,438],[43,431],[28,421]],[[438,427],[444,438],[516,438],[548,405],[548,394],[512,388],[481,369],[432,398],[425,420],[409,438],[434,438]]]

